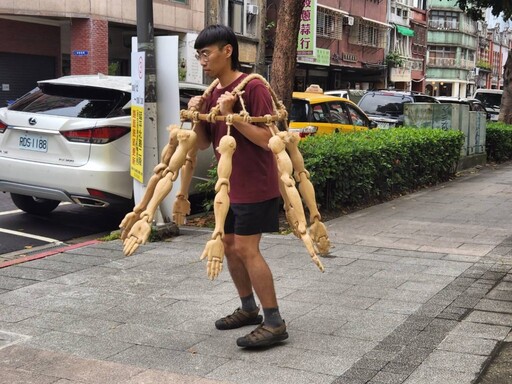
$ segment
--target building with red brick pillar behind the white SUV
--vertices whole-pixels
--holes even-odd
[[[194,61],[191,42],[205,25],[205,9],[205,0],[153,1],[154,34],[178,35],[182,62]],[[0,106],[37,80],[129,75],[136,13],[136,0],[0,0]]]

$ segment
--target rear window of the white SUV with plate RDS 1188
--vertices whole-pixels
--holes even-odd
[[[90,119],[129,115],[123,106],[131,94],[113,89],[44,84],[32,90],[9,110]]]

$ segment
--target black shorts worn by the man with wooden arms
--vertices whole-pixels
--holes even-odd
[[[260,203],[231,204],[224,232],[249,236],[279,231],[279,197]]]

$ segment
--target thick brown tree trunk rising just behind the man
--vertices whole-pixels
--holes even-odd
[[[304,0],[281,0],[270,70],[270,85],[289,111],[297,62],[297,42]]]

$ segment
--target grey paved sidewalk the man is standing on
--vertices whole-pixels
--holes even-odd
[[[239,302],[209,230],[33,257],[0,269],[0,383],[470,384],[512,341],[511,213],[505,164],[327,222],[324,273],[265,236],[290,338],[260,351],[213,326]]]

